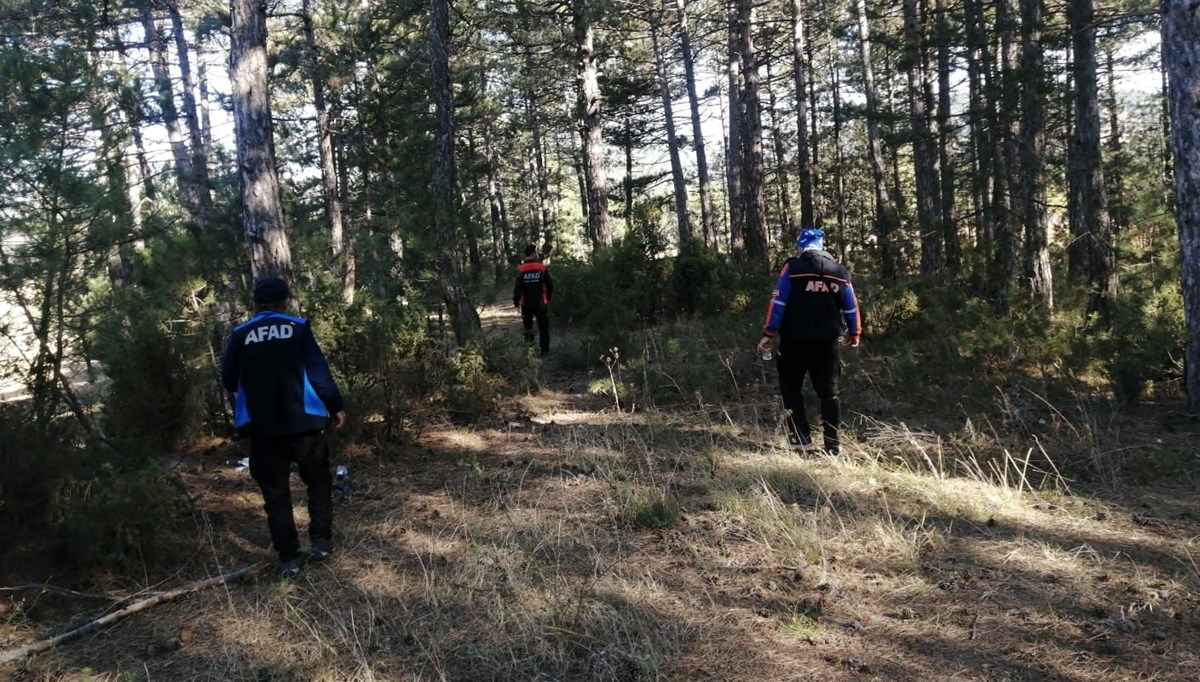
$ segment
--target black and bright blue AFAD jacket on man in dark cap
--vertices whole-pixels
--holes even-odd
[[[308,321],[262,310],[234,328],[221,382],[236,395],[238,435],[270,438],[318,431],[343,408]]]

